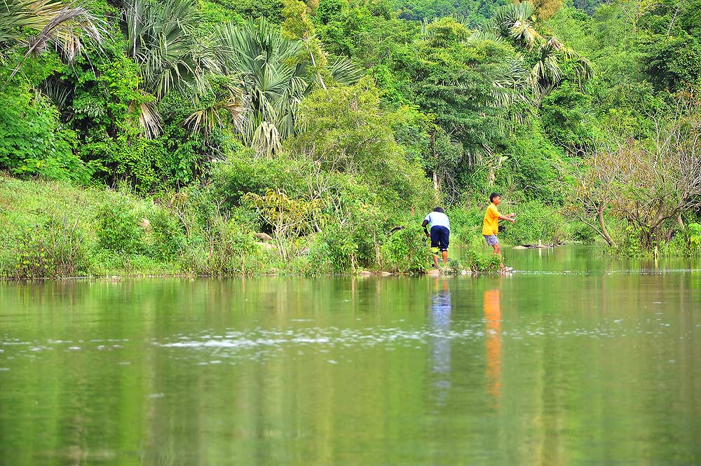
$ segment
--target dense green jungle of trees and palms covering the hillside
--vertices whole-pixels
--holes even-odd
[[[198,273],[261,232],[320,272],[421,271],[426,211],[469,243],[492,191],[511,244],[697,254],[700,6],[6,1],[0,167],[155,200],[160,240],[117,202],[95,247]]]

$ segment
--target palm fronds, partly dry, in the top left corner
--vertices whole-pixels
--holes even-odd
[[[28,29],[34,34],[27,35]],[[83,36],[102,41],[102,22],[76,4],[58,0],[3,0],[0,4],[0,62],[8,52],[26,47],[20,62],[13,69],[15,76],[29,56],[43,53],[50,43],[68,62],[72,62],[84,48]]]

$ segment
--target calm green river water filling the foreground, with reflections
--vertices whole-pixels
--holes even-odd
[[[701,263],[505,254],[2,283],[0,465],[701,465]]]

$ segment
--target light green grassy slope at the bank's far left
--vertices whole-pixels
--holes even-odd
[[[0,228],[6,232],[6,239],[0,243],[0,277],[74,275],[69,271],[97,277],[180,273],[172,261],[154,259],[144,252],[125,254],[100,246],[99,212],[104,205],[119,202],[135,218],[147,217],[158,209],[151,200],[129,193],[85,189],[65,181],[25,181],[0,174]],[[146,246],[149,233],[143,233]],[[46,249],[43,257],[42,248]],[[70,260],[77,267],[66,266]]]

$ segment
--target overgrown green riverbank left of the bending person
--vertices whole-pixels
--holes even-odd
[[[259,224],[250,217],[224,210],[205,189],[140,198],[3,174],[0,278],[423,273],[428,267],[418,226],[376,242],[380,266],[351,262],[347,270],[334,270],[332,252],[318,234],[281,243],[257,234]],[[358,245],[348,247],[353,257]]]

